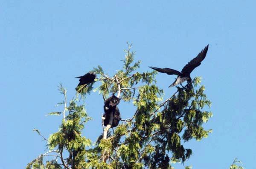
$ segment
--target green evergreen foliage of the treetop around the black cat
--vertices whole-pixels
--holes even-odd
[[[100,135],[92,146],[92,141],[82,136],[84,124],[90,120],[84,105],[73,99],[67,106],[67,90],[60,84],[65,100],[59,104],[64,105],[64,111],[49,115],[63,114],[63,120],[58,132],[45,139],[49,151],[29,163],[27,169],[173,169],[171,162],[184,162],[192,155],[192,149],[185,148],[182,142],[192,138],[200,141],[212,131],[202,127],[212,113],[202,110],[210,106],[210,101],[204,86],[200,86],[201,79],[177,87],[177,95],[160,103],[163,90],[156,85],[157,72],[137,72],[140,61],[134,62],[134,56],[128,44],[123,67],[113,77],[100,66],[92,70],[98,75],[95,82],[101,82],[93,91],[105,98],[118,93],[121,101],[132,101],[136,107],[134,115],[113,133],[108,132],[107,139]],[[82,96],[90,93],[94,84],[84,87]],[[45,162],[46,155],[52,155],[52,161]]]

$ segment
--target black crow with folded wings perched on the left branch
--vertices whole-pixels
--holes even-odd
[[[89,72],[89,73],[86,73],[84,76],[79,76],[76,78],[79,78],[79,84],[76,87],[76,91],[80,93],[84,87],[94,82],[94,79],[96,78],[96,74]]]

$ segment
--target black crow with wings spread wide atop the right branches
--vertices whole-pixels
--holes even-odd
[[[201,62],[204,60],[207,51],[208,51],[208,46],[207,45],[199,54],[198,56],[196,56],[194,59],[192,59],[190,62],[188,62],[188,64],[186,64],[186,66],[184,66],[184,68],[181,70],[181,72],[174,70],[174,69],[170,69],[170,68],[156,68],[156,67],[151,67],[149,66],[149,68],[157,70],[158,72],[161,73],[166,73],[169,75],[178,75],[177,79],[175,80],[175,82],[172,83],[172,85],[170,85],[169,87],[173,87],[176,86],[180,83],[183,83],[185,81],[191,82],[192,79],[190,77],[190,73],[199,65],[201,65]]]

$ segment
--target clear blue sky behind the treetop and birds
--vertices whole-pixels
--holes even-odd
[[[238,157],[252,169],[256,161],[255,132],[255,1],[71,1],[2,0],[0,2],[0,169],[21,169],[45,150],[34,132],[49,136],[58,130],[62,82],[68,99],[75,95],[76,76],[102,65],[109,75],[122,67],[126,41],[133,43],[140,71],[148,66],[181,70],[209,44],[192,78],[201,76],[213,117],[209,138],[185,144],[192,157],[184,166],[228,168]],[[157,75],[165,98],[175,76]],[[99,85],[99,84],[96,84]],[[103,100],[92,93],[86,101],[93,118],[84,130],[96,141],[101,134]],[[133,108],[121,103],[122,117]],[[183,169],[175,164],[176,169]]]

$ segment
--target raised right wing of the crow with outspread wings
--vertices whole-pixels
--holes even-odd
[[[189,76],[189,74],[199,65],[201,65],[201,62],[204,60],[207,51],[208,51],[207,45],[194,59],[192,59],[184,68],[181,70],[181,73],[185,76]]]

